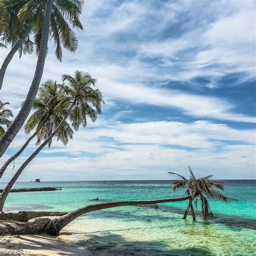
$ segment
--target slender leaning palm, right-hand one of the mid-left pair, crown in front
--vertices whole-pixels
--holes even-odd
[[[58,133],[59,129],[65,123],[66,118],[70,119],[71,125],[77,131],[80,125],[83,125],[84,127],[86,126],[86,116],[89,116],[94,123],[97,119],[97,114],[102,113],[102,104],[104,104],[102,93],[98,89],[92,88],[92,86],[95,86],[96,79],[92,78],[88,73],[76,71],[75,77],[63,75],[63,82],[66,80],[69,84],[63,85],[62,91],[66,96],[64,109],[68,110],[51,135],[24,161],[9,183],[5,186],[3,192],[0,194],[0,211],[3,210],[6,197],[22,171],[30,161],[37,156],[44,146],[49,144],[51,139]],[[59,107],[63,107],[63,105],[60,105]]]

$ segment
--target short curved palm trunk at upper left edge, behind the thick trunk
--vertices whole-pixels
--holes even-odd
[[[2,66],[1,66],[1,69],[0,69],[0,90],[2,89],[5,71],[8,67],[8,65],[9,65],[9,63],[11,62],[12,57],[14,57],[16,51],[18,51],[18,49],[21,47],[21,45],[23,44],[26,37],[28,37],[29,33],[31,32],[31,29],[32,29],[32,26],[29,25],[28,29],[24,32],[24,35],[22,35],[22,37],[14,45],[14,47],[10,50],[10,52],[8,53],[6,58],[4,59],[4,62],[3,62]]]

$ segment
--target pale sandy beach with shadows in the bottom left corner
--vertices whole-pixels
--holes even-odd
[[[0,255],[92,255],[73,235],[6,235],[0,237]]]

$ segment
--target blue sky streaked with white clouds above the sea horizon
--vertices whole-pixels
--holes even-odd
[[[255,178],[255,1],[86,0],[75,54],[53,43],[42,82],[89,72],[106,102],[95,124],[53,143],[22,180]],[[1,62],[7,51],[1,49]],[[1,99],[15,114],[36,56],[16,56]],[[21,130],[0,163],[28,137]],[[35,150],[33,143],[15,169]],[[2,181],[14,171],[10,166]]]

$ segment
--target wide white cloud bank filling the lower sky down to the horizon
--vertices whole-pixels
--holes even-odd
[[[229,141],[236,144],[229,145]],[[235,178],[244,175],[239,174],[244,170],[246,177],[253,178],[254,143],[254,130],[237,130],[204,120],[133,124],[100,120],[99,126],[75,133],[68,146],[53,142],[51,149],[45,148],[26,168],[21,180],[33,178],[35,170],[42,171],[45,180],[68,179],[74,170],[70,176],[73,180],[143,176],[165,179],[167,170],[186,173],[188,164],[201,175],[214,172],[219,178],[231,174]],[[58,156],[60,153],[66,154]],[[16,170],[27,154],[16,160]],[[6,158],[1,159],[1,164]],[[11,168],[3,180],[10,177]]]

